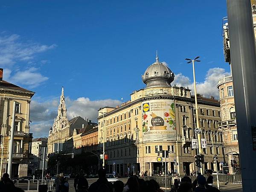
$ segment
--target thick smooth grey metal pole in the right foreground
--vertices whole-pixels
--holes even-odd
[[[230,55],[244,192],[256,189],[256,51],[250,0],[227,0]]]

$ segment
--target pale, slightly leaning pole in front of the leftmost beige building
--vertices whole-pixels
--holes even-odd
[[[12,178],[12,153],[13,153],[13,137],[14,137],[14,123],[15,123],[15,106],[16,102],[13,102],[13,112],[12,112],[12,127],[11,127],[11,137],[9,140],[9,158],[8,158],[8,174]]]

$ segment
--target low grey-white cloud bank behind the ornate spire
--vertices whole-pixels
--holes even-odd
[[[97,122],[98,110],[101,107],[120,105],[120,101],[113,99],[103,99],[91,101],[89,98],[79,97],[70,99],[66,97],[67,116],[72,119],[73,116],[86,117]],[[33,137],[48,137],[49,128],[52,126],[54,118],[57,116],[59,97],[45,102],[32,100],[30,105],[30,132]]]

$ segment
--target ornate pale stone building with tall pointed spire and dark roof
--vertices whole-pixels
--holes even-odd
[[[64,88],[62,87],[58,115],[54,119],[52,128],[49,130],[48,154],[54,153],[55,143],[64,143],[72,136],[75,128],[82,128],[88,125],[88,120],[81,116],[76,116],[71,120],[67,119],[67,108],[65,104]],[[67,145],[66,145],[67,146]]]

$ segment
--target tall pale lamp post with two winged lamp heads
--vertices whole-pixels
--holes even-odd
[[[193,78],[194,78],[194,90],[195,90],[195,116],[196,116],[196,128],[199,128],[199,118],[198,118],[198,104],[197,104],[197,93],[196,93],[196,84],[195,84],[195,61],[200,62],[199,60],[197,60],[199,58],[196,57],[195,59],[189,59],[186,58],[186,60],[188,60],[187,63],[191,63],[193,65]],[[200,131],[201,132],[201,131]],[[198,151],[199,154],[202,154],[202,144],[201,144],[201,133],[197,134],[198,136]],[[203,166],[201,166],[201,169],[199,168],[199,171],[201,170],[201,173],[204,174],[204,168]]]

